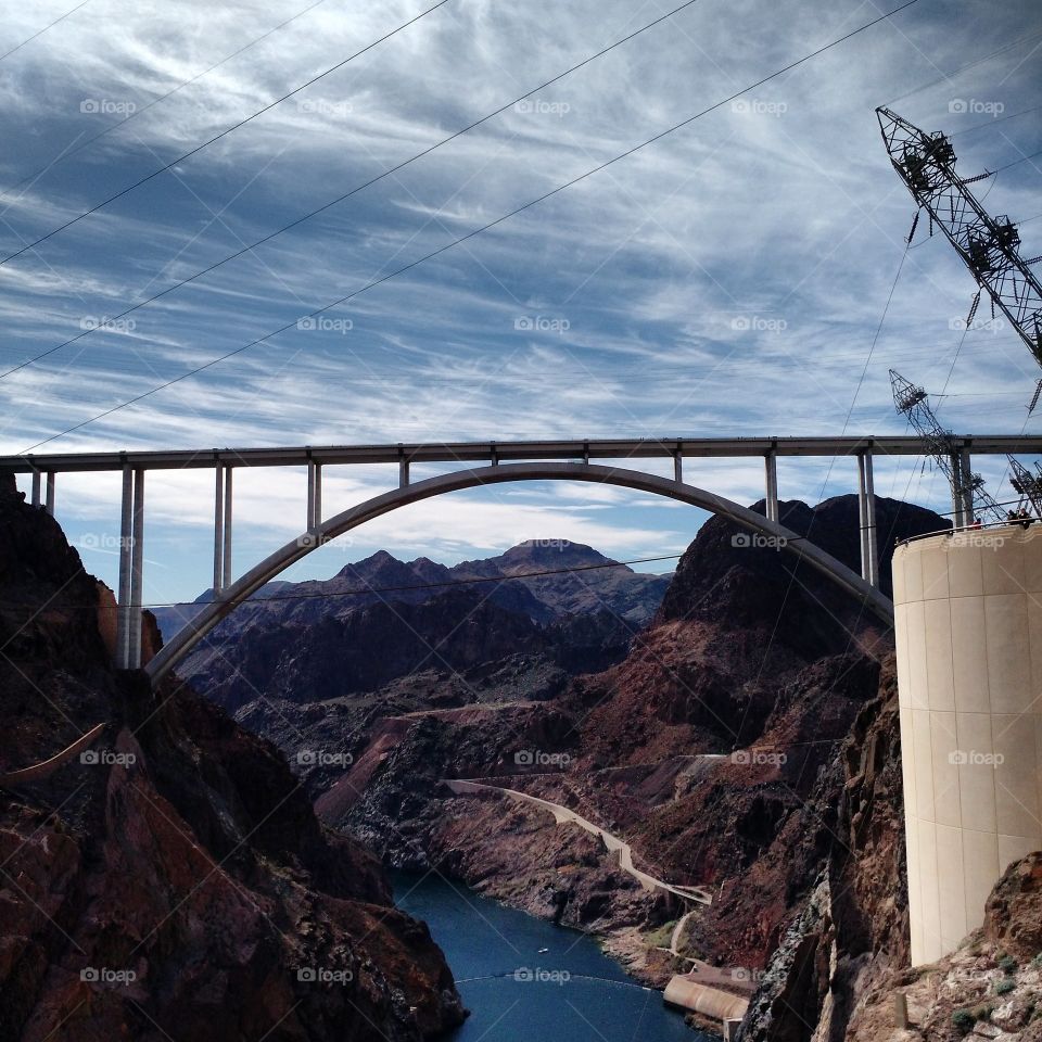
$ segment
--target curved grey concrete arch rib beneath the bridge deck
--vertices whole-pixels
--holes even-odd
[[[403,485],[385,492],[365,503],[351,507],[323,521],[317,529],[303,533],[292,543],[254,566],[237,582],[220,592],[219,597],[208,603],[187,626],[180,630],[145,666],[153,683],[164,677],[181,659],[220,622],[229,612],[241,605],[253,593],[275,579],[291,564],[306,557],[325,543],[334,539],[352,529],[390,513],[401,507],[423,499],[431,499],[450,492],[466,488],[480,488],[485,485],[503,484],[513,481],[589,481],[599,484],[617,485],[651,495],[664,496],[701,507],[711,513],[721,514],[750,532],[760,532],[783,541],[787,552],[805,560],[841,589],[864,603],[887,626],[893,625],[893,602],[878,589],[865,582],[830,554],[810,543],[797,533],[789,531],[763,514],[724,496],[707,492],[684,482],[659,478],[619,467],[603,467],[597,463],[567,462],[524,462],[500,463],[493,467],[478,467],[428,478],[412,484]]]

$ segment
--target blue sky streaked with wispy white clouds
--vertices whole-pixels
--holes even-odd
[[[71,0],[4,0],[2,255],[433,3],[87,0],[34,37]],[[698,0],[510,104],[678,3],[447,0],[8,260],[0,371],[87,335],[0,380],[0,450],[898,433],[891,366],[944,390],[936,402],[955,430],[1019,432],[1027,422],[1042,431],[1042,410],[1026,412],[1038,367],[1015,334],[988,320],[987,305],[974,329],[961,328],[974,285],[954,252],[923,229],[904,255],[913,206],[874,113],[892,104],[952,134],[965,175],[1024,160],[977,188],[990,209],[1025,221],[1025,254],[1042,254],[1042,158],[1024,158],[1042,149],[1038,3],[918,0],[747,89],[897,3]],[[365,290],[310,323],[319,328],[297,328],[315,308],[736,92]],[[93,329],[508,104],[319,216]],[[980,468],[1005,498],[1001,467]],[[757,461],[689,463],[687,478],[744,501],[761,495]],[[395,479],[390,469],[330,471],[327,511]],[[304,476],[237,481],[238,571],[303,528]],[[784,498],[817,500],[853,482],[847,460],[780,466]],[[60,520],[109,581],[117,484],[59,485]],[[920,460],[881,461],[877,491],[946,509]],[[149,507],[147,597],[193,597],[208,585],[211,481],[153,475]],[[381,546],[454,561],[526,537],[648,557],[682,550],[701,520],[612,490],[513,486],[399,511],[294,574],[330,574]]]

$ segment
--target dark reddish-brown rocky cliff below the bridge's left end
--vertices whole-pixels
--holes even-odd
[[[98,584],[0,486],[0,1038],[420,1040],[462,1017],[427,928],[267,742],[114,673]]]

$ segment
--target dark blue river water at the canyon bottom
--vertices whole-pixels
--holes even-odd
[[[398,907],[431,928],[456,976],[466,1024],[453,1042],[700,1042],[583,933],[434,875],[392,873]],[[541,952],[541,949],[547,949]]]

